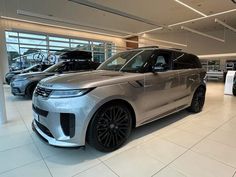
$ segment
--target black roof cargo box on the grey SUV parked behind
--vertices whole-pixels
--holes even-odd
[[[87,51],[73,50],[61,54],[60,59],[84,59],[91,60],[92,53]]]

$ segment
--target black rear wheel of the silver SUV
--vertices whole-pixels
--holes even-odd
[[[198,87],[193,95],[191,105],[187,110],[193,113],[201,112],[205,103],[205,93],[206,89],[204,87]]]

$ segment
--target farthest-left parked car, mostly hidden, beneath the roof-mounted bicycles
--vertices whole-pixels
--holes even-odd
[[[36,64],[36,65],[30,66],[30,67],[23,69],[23,70],[11,71],[5,75],[5,81],[9,85],[12,78],[17,74],[44,71],[45,69],[49,68],[50,66],[52,66],[52,65],[42,63],[42,64]]]

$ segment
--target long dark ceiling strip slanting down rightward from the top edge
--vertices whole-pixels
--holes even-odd
[[[161,26],[161,25],[157,24],[156,22],[144,19],[142,17],[138,17],[138,16],[135,16],[135,15],[132,15],[132,14],[128,14],[126,12],[123,12],[123,11],[120,11],[120,10],[117,10],[117,9],[113,9],[113,8],[110,8],[110,7],[106,7],[106,6],[103,6],[101,4],[91,2],[91,1],[88,1],[88,0],[69,0],[69,1],[80,4],[80,5],[87,6],[87,7],[90,7],[90,8],[94,8],[94,9],[97,9],[97,10],[101,10],[101,11],[104,11],[104,12],[108,12],[108,13],[111,13],[111,14],[115,14],[115,15],[118,15],[118,16],[121,16],[121,17],[136,20],[136,21],[146,23],[146,24],[149,24],[149,25]]]

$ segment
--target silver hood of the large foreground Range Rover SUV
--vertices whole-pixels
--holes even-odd
[[[52,89],[81,89],[125,83],[142,78],[143,74],[140,73],[95,70],[46,78],[40,82],[40,85]]]

